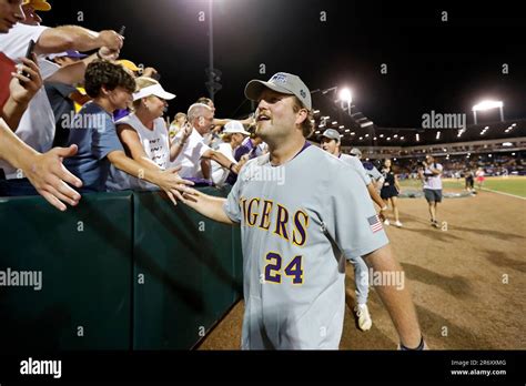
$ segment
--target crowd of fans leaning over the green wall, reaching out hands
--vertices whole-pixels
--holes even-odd
[[[63,211],[83,193],[161,189],[175,203],[189,185],[235,183],[266,152],[253,119],[219,119],[204,96],[170,123],[175,94],[120,58],[120,33],[45,27],[51,11],[0,0],[0,196],[41,194]]]

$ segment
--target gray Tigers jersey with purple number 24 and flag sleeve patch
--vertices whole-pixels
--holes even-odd
[[[265,154],[242,169],[224,211],[241,225],[242,348],[337,349],[341,252],[363,256],[388,243],[356,171],[316,146],[281,166]]]

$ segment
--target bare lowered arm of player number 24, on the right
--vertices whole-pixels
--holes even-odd
[[[393,275],[393,273],[402,273],[403,270],[394,258],[390,244],[363,257],[375,272],[385,272],[391,277],[404,277],[403,285],[384,284],[375,286],[375,290],[391,315],[401,343],[408,348],[418,347],[422,332],[416,317],[415,306],[405,283],[405,275]],[[382,274],[382,277],[385,276]]]

